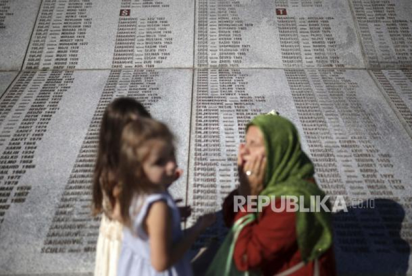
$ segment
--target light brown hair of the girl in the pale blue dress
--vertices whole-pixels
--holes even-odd
[[[147,195],[156,191],[143,171],[143,162],[150,153],[150,141],[163,140],[173,143],[173,134],[158,121],[141,118],[124,128],[121,138],[119,183],[120,213],[124,224],[130,226],[130,206],[135,195]]]

